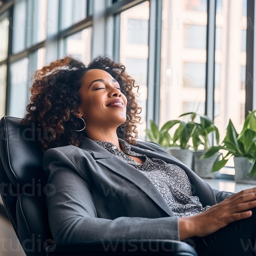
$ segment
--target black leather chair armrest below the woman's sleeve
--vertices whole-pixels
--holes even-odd
[[[197,256],[189,244],[176,240],[130,239],[54,244],[46,247],[47,256],[108,256],[118,255]]]

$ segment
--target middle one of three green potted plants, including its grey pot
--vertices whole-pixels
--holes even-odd
[[[220,153],[216,152],[207,159],[201,159],[210,149],[209,135],[215,133],[216,144],[219,145],[219,130],[207,116],[201,116],[196,112],[185,113],[181,116],[190,115],[189,124],[194,126],[192,134],[192,145],[194,149],[194,166],[193,171],[201,178],[218,178],[219,172],[212,173],[212,166]],[[200,118],[200,123],[195,122],[196,117]],[[201,150],[199,148],[202,148]]]

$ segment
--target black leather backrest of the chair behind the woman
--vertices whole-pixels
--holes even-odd
[[[35,129],[21,126],[20,121],[0,120],[0,194],[26,255],[45,256],[54,240],[45,203],[43,152],[33,136]]]

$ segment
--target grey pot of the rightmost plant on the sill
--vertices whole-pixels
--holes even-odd
[[[252,164],[246,157],[234,157],[235,163],[235,181],[237,183],[256,184],[256,175],[250,177],[250,169]]]

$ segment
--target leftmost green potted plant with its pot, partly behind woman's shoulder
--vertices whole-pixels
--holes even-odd
[[[171,137],[169,130],[179,124]],[[193,151],[189,149],[188,141],[192,136],[191,124],[180,120],[170,120],[162,128],[158,129],[154,121],[150,121],[150,129],[146,129],[148,138],[160,144],[165,150],[192,169]]]

